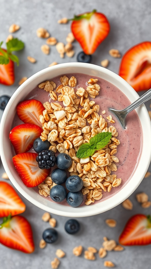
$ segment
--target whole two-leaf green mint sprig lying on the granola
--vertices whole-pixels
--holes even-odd
[[[90,139],[89,143],[81,145],[76,154],[77,158],[92,156],[96,150],[104,148],[109,143],[111,137],[112,133],[110,132],[96,134]]]

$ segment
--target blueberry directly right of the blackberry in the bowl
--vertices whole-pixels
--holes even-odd
[[[60,169],[67,169],[72,164],[70,156],[66,153],[60,153],[56,157],[56,165]]]

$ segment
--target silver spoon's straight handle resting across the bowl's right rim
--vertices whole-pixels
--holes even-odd
[[[144,93],[141,97],[139,97],[134,103],[129,105],[127,108],[123,109],[123,112],[126,112],[126,114],[128,114],[139,105],[142,105],[144,102],[148,101],[150,98],[151,98],[151,89],[148,90],[146,93]]]

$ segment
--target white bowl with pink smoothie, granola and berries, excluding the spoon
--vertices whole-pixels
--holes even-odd
[[[67,217],[120,204],[149,167],[151,125],[145,105],[127,116],[125,129],[109,108],[138,97],[121,77],[91,64],[64,63],[27,79],[0,125],[1,160],[13,185],[39,208]]]

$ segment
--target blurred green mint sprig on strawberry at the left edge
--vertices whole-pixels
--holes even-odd
[[[21,40],[18,40],[18,38],[13,38],[12,40],[9,40],[6,43],[7,51],[1,48],[3,42],[0,43],[0,52],[2,55],[0,55],[0,64],[6,65],[9,63],[10,59],[13,62],[16,62],[17,65],[19,65],[19,58],[12,54],[12,51],[19,51],[24,48],[24,43]]]

